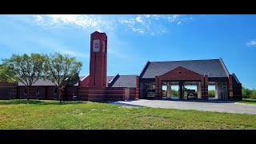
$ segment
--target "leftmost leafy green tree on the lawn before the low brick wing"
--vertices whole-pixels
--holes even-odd
[[[10,74],[15,81],[22,82],[28,88],[27,99],[30,99],[30,88],[34,82],[42,78],[43,63],[45,61],[43,54],[13,54],[11,58],[2,59],[3,66],[10,70]]]

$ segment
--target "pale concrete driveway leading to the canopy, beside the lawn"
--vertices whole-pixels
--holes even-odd
[[[184,102],[170,100],[147,100],[111,102],[112,104],[124,106],[148,106],[178,110],[205,110],[226,113],[256,114],[256,105],[240,104],[235,102]]]

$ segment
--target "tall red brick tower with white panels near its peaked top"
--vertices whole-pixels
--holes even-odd
[[[106,91],[106,33],[95,31],[90,34],[90,82],[89,101],[105,98]]]

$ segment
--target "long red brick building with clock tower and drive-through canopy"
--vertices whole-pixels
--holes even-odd
[[[178,85],[179,98],[184,98],[185,86],[197,86],[198,98],[208,98],[208,86],[215,86],[215,97],[222,100],[242,98],[242,84],[230,74],[222,58],[194,61],[147,62],[140,75],[106,76],[107,36],[95,31],[90,36],[90,74],[70,82],[62,91],[64,99],[89,101],[162,98],[162,86],[170,94]],[[152,92],[152,91],[151,91]],[[26,98],[28,90],[21,82],[0,82],[0,98]],[[57,99],[58,89],[53,82],[38,80],[30,90],[30,98]]]

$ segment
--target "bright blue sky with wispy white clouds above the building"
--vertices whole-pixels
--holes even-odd
[[[222,58],[256,88],[256,15],[0,15],[0,58],[70,54],[89,73],[90,34],[108,36],[107,75],[140,74],[147,61]],[[1,63],[1,61],[0,61]]]

